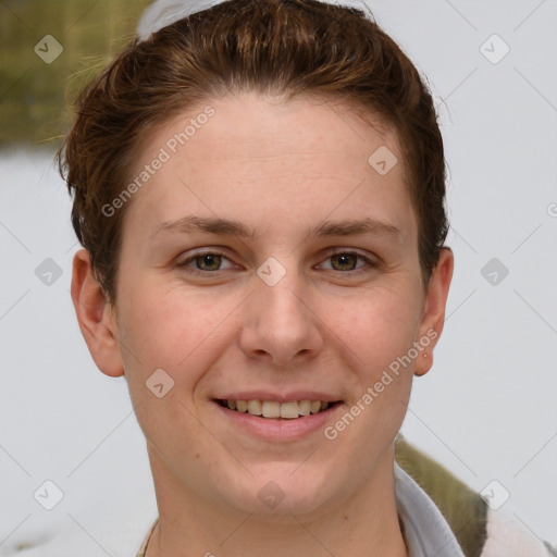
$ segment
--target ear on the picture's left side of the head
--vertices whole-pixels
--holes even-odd
[[[81,249],[74,256],[72,301],[79,329],[97,368],[112,377],[123,375],[115,311],[95,278],[86,249]]]

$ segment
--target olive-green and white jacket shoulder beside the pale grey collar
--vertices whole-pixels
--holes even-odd
[[[479,493],[401,436],[395,456],[445,517],[466,557],[557,557],[512,515],[492,510]]]

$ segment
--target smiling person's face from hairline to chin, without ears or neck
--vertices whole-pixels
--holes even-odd
[[[386,461],[438,334],[396,134],[246,94],[170,121],[133,177],[146,164],[112,315],[156,481],[248,512],[337,507]]]

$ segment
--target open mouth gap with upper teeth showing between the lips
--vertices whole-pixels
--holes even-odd
[[[265,420],[297,420],[312,414],[323,413],[336,408],[342,400],[235,400],[216,398],[214,401],[234,412],[247,413]]]

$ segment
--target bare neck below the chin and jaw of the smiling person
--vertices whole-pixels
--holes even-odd
[[[261,517],[215,505],[176,481],[149,450],[159,520],[146,557],[407,557],[396,511],[392,450],[370,481],[334,508]]]

